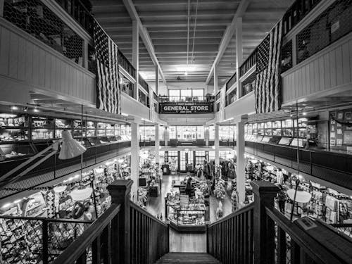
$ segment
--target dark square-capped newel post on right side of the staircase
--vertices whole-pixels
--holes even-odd
[[[275,225],[265,207],[273,208],[279,187],[270,182],[251,182],[254,193],[254,264],[270,264],[275,260]]]

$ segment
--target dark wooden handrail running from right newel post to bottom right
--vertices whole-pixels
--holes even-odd
[[[276,208],[265,208],[269,218],[277,223],[284,232],[289,234],[291,240],[294,240],[312,258],[316,263],[338,264],[346,263],[338,256],[329,253],[327,249],[310,237],[307,232],[301,230],[296,224],[291,222],[286,216],[279,212]]]

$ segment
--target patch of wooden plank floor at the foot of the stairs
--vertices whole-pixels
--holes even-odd
[[[206,233],[184,234],[170,229],[170,252],[206,252]]]

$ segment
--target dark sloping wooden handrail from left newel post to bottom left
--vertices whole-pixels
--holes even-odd
[[[98,218],[91,226],[84,231],[84,233],[77,238],[70,246],[68,246],[63,253],[61,253],[53,264],[72,264],[80,259],[82,254],[87,250],[93,241],[99,237],[101,232],[110,224],[111,220],[115,218],[120,212],[120,205],[113,203],[108,210],[106,210],[100,218]]]

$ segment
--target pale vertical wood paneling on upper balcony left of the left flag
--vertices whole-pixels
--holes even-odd
[[[1,18],[0,75],[76,101],[96,101],[92,73]]]

